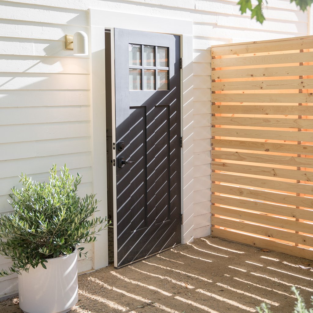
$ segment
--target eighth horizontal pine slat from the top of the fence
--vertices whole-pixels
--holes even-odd
[[[313,141],[313,132],[311,131],[270,131],[213,127],[211,135],[219,137],[258,138],[284,141]]]

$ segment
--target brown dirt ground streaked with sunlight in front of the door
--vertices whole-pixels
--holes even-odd
[[[264,247],[266,248],[266,247]],[[312,264],[311,264],[312,262]],[[79,276],[79,302],[71,313],[293,312],[296,285],[308,307],[313,261],[228,240],[205,237],[131,266],[108,266]],[[18,298],[1,313],[22,313]]]

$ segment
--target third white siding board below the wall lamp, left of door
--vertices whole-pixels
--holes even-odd
[[[88,90],[0,90],[0,108],[89,105]]]

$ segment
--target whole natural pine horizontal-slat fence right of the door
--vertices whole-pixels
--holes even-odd
[[[313,259],[313,37],[212,47],[212,235]]]

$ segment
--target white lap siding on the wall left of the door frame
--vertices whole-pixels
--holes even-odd
[[[80,196],[93,191],[89,59],[64,49],[64,35],[88,33],[86,11],[0,2],[0,213],[18,175],[47,181],[53,163],[83,175]],[[79,271],[92,269],[93,245]],[[10,262],[0,257],[0,267]],[[0,296],[17,290],[0,281]]]

